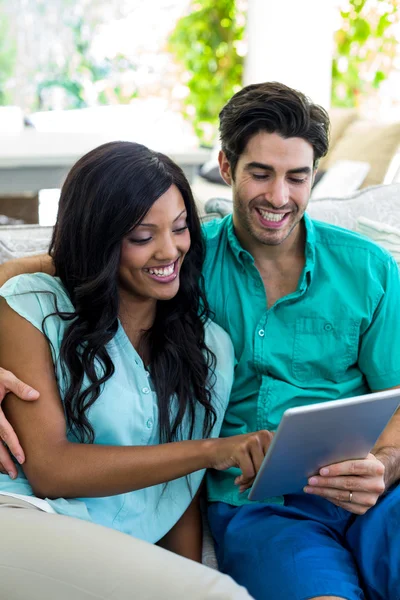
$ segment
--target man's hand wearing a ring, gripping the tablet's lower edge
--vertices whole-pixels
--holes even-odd
[[[329,465],[309,478],[304,491],[363,515],[385,491],[385,466],[373,454],[361,460]]]

